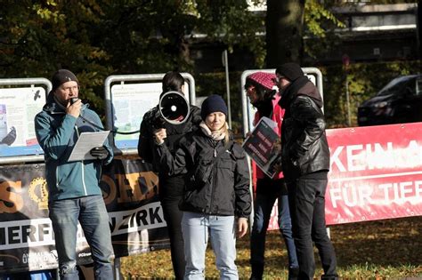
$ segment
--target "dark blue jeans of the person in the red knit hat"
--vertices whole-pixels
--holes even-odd
[[[265,236],[268,223],[271,218],[272,206],[278,198],[279,203],[279,227],[281,236],[288,250],[288,268],[297,268],[296,247],[292,236],[292,224],[288,209],[288,196],[283,196],[280,192],[258,192],[255,199],[254,225],[250,236],[250,262],[257,268],[258,276],[264,269]],[[254,271],[252,271],[254,273]]]

